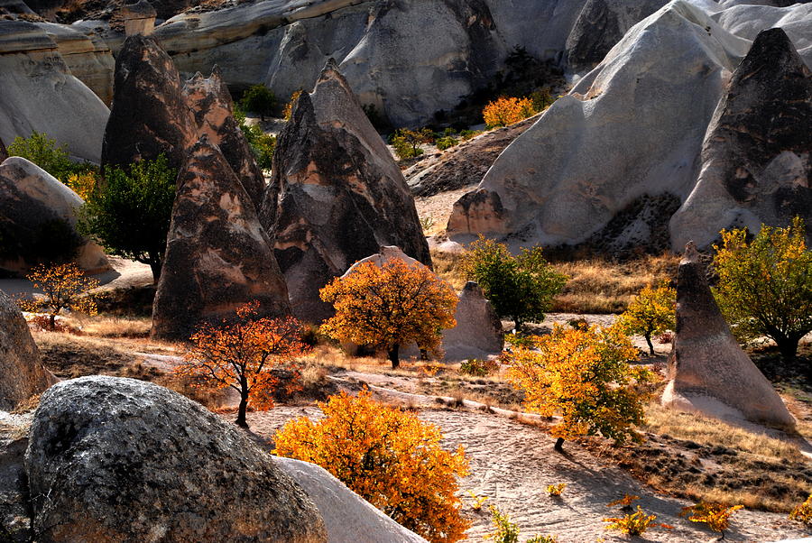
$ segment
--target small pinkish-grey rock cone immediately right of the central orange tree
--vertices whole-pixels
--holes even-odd
[[[457,326],[443,330],[446,360],[481,359],[488,354],[502,353],[502,321],[474,281],[468,281],[459,293],[454,318]]]

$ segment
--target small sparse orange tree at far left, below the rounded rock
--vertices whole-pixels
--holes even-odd
[[[96,315],[96,299],[88,294],[88,290],[97,288],[98,281],[85,275],[76,264],[41,264],[25,277],[33,283],[34,289],[42,290],[45,296],[22,299],[19,302],[20,308],[32,313],[46,311],[50,330],[54,329],[57,315],[62,309]]]

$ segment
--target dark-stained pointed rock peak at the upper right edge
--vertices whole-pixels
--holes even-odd
[[[734,71],[702,150],[697,186],[671,219],[674,244],[722,228],[806,219],[812,233],[812,72],[780,28],[761,32]]]

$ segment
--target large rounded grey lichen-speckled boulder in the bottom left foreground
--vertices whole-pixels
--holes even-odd
[[[327,541],[313,502],[242,430],[148,382],[42,395],[25,469],[46,541]]]

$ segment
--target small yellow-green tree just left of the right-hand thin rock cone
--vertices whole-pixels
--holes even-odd
[[[657,287],[646,285],[629,302],[629,307],[620,316],[620,325],[627,334],[640,334],[646,338],[649,354],[654,355],[651,336],[662,334],[677,327],[677,290],[667,282]]]

